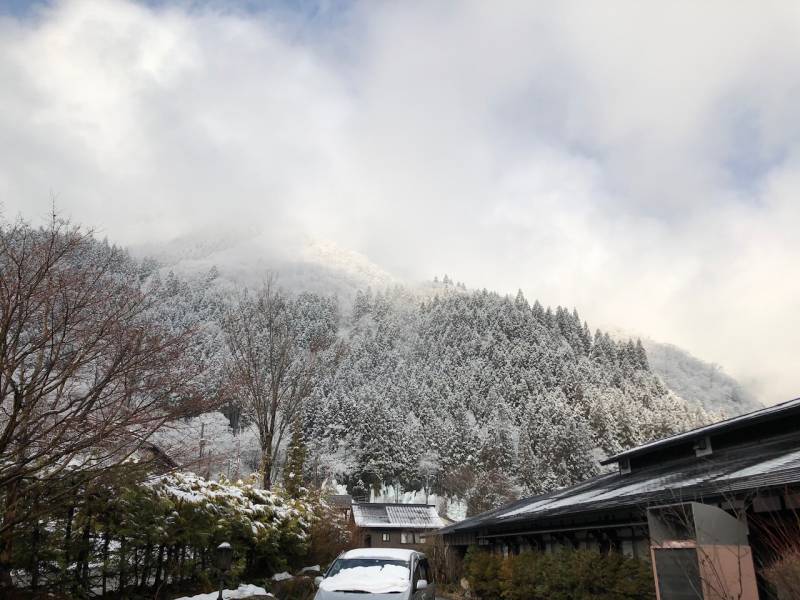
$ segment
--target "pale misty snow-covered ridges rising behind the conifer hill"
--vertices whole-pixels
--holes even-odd
[[[150,256],[162,270],[193,277],[212,268],[219,272],[217,285],[257,287],[269,273],[279,285],[292,292],[310,291],[335,295],[350,304],[359,290],[384,290],[403,284],[420,298],[448,293],[466,293],[461,283],[450,281],[401,281],[368,257],[322,240],[280,240],[256,228],[199,231],[169,243],[139,246],[135,256]],[[638,337],[616,330],[617,339]],[[759,408],[757,398],[719,365],[705,362],[686,350],[641,336],[650,367],[675,394],[704,409],[726,415]]]

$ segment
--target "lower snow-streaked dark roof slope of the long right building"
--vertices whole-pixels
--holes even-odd
[[[800,485],[800,437],[784,436],[710,456],[609,473],[542,496],[526,498],[450,525],[442,534],[504,528],[550,517],[689,500],[725,498],[764,488]]]

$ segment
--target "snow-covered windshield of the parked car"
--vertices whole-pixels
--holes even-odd
[[[332,592],[396,594],[408,589],[409,563],[391,558],[339,558],[328,570],[320,589]]]

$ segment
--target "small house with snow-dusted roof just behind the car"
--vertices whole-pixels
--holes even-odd
[[[354,502],[352,521],[355,543],[364,548],[414,548],[445,523],[429,504]]]

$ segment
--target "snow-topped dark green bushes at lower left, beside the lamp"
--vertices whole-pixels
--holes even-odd
[[[16,585],[80,597],[210,591],[221,542],[234,549],[229,585],[293,569],[304,562],[315,513],[323,510],[311,498],[192,473],[97,484],[49,508],[15,547]]]

